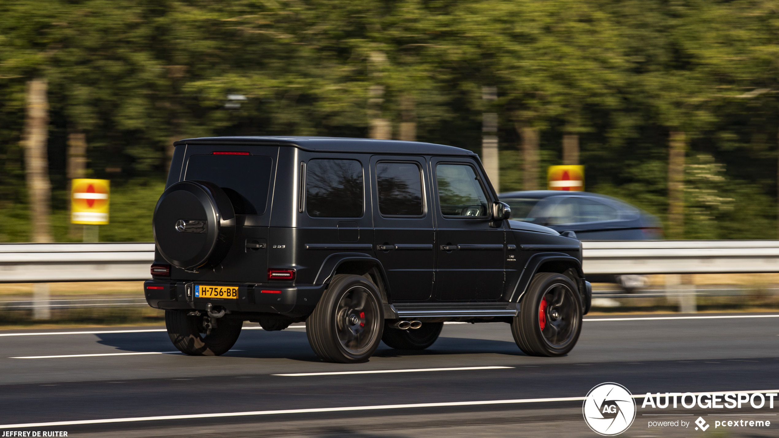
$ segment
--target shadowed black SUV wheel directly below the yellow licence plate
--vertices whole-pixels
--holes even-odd
[[[178,351],[190,356],[220,356],[238,341],[243,321],[223,317],[212,328],[210,319],[189,316],[186,310],[165,310],[167,335]]]

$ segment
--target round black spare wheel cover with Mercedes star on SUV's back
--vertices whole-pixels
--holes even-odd
[[[232,244],[234,218],[230,199],[216,184],[181,181],[167,187],[157,201],[154,243],[178,268],[192,271],[217,265]]]

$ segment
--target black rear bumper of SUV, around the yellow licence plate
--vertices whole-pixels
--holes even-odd
[[[208,284],[210,282],[199,282]],[[208,303],[230,311],[281,314],[287,317],[305,317],[314,311],[327,285],[239,284],[221,282],[224,286],[238,286],[237,299],[199,298],[192,282],[146,280],[143,293],[146,303],[155,309],[206,310]]]

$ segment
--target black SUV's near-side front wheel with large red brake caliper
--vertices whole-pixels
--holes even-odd
[[[582,327],[582,306],[576,285],[565,275],[534,276],[513,319],[516,345],[529,356],[562,356],[571,351]]]

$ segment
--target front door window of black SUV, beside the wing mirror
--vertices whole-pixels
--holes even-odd
[[[487,215],[487,196],[481,190],[473,167],[467,164],[439,164],[435,166],[435,174],[443,215]]]

